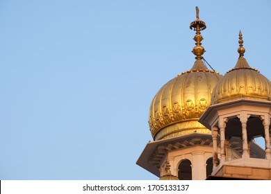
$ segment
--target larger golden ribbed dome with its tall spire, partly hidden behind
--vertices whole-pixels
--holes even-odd
[[[158,91],[149,108],[149,128],[154,140],[168,139],[193,132],[211,133],[198,122],[199,117],[211,104],[211,92],[222,78],[220,73],[210,71],[202,62],[205,50],[200,31],[206,28],[204,21],[192,21],[190,28],[196,31],[196,55],[194,66],[167,82]]]

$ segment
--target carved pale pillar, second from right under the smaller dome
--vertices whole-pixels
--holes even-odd
[[[249,158],[248,143],[247,143],[247,118],[248,114],[241,114],[240,121],[242,123],[242,137],[243,137],[243,155],[242,158]]]

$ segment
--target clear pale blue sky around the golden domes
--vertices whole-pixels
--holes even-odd
[[[271,1],[0,1],[0,179],[157,179],[136,165],[148,111],[192,67],[190,22],[224,74],[270,76]]]

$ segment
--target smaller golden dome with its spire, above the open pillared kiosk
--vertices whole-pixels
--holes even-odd
[[[247,60],[243,58],[242,33],[239,33],[238,53],[240,57],[236,66],[228,71],[213,89],[211,104],[223,103],[240,98],[254,100],[271,100],[271,84],[257,69],[249,67]]]

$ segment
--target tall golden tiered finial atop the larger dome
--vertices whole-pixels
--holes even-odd
[[[202,60],[202,55],[205,53],[204,47],[202,46],[202,40],[204,39],[202,35],[200,35],[200,31],[206,28],[206,24],[204,21],[199,20],[199,8],[196,7],[196,17],[197,20],[192,21],[190,24],[190,29],[196,31],[196,35],[194,37],[196,46],[193,48],[192,53],[196,55],[197,60]]]

